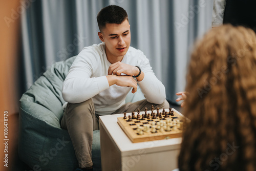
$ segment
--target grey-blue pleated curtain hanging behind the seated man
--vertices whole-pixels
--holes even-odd
[[[150,59],[156,76],[175,103],[185,87],[189,52],[211,27],[212,0],[30,0],[22,14],[23,91],[54,62],[100,42],[97,13],[123,7],[131,24],[131,46]]]

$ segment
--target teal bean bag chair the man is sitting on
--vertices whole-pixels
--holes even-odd
[[[60,127],[63,116],[62,83],[76,56],[54,63],[20,98],[18,154],[32,170],[71,171],[78,167],[67,130]],[[144,98],[138,88],[126,102]],[[99,131],[93,133],[94,170],[101,170]]]

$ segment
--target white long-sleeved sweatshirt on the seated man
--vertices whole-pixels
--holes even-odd
[[[148,102],[161,104],[165,100],[165,88],[157,79],[145,55],[130,47],[123,63],[139,66],[145,76],[137,81]],[[69,103],[80,103],[93,98],[95,113],[108,115],[125,103],[131,87],[109,86],[106,79],[111,63],[106,58],[105,44],[84,47],[74,60],[63,82],[62,97]]]

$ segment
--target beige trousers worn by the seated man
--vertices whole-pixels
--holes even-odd
[[[154,104],[146,100],[140,100],[134,103],[125,103],[113,114],[129,113],[146,107],[151,109],[158,106],[160,109],[169,108],[169,103],[165,100],[162,104]],[[72,144],[75,149],[76,158],[79,167],[90,167],[92,162],[92,141],[93,131],[99,130],[99,116],[95,114],[94,103],[92,99],[81,103],[68,103],[61,120],[61,128],[69,132]]]

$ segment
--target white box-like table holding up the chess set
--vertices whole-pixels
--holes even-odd
[[[102,171],[173,170],[178,167],[181,138],[132,143],[118,125],[118,117],[123,114],[99,117]]]

